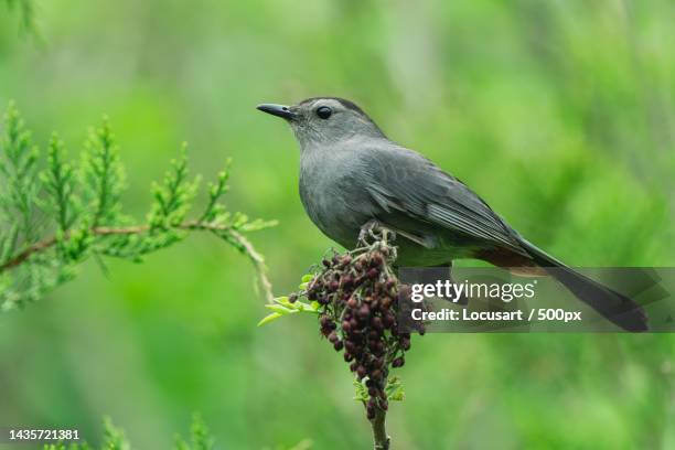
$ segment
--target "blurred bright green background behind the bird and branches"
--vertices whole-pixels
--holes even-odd
[[[354,99],[576,266],[675,265],[675,3],[663,1],[39,1],[41,38],[0,10],[0,105],[72,157],[110,116],[127,212],[182,140],[193,173],[234,158],[232,208],[275,289],[333,245],[304,215],[298,149],[254,108]],[[0,318],[0,425],[109,415],[139,449],[201,411],[222,449],[369,448],[340,355],[311,318],[257,329],[254,271],[208,236],[143,265],[87,264]],[[395,448],[675,448],[675,338],[428,335],[400,371]]]

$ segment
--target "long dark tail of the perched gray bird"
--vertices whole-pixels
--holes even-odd
[[[628,331],[649,330],[647,317],[640,304],[570,269],[527,240],[523,239],[522,245],[538,266],[608,320]]]

